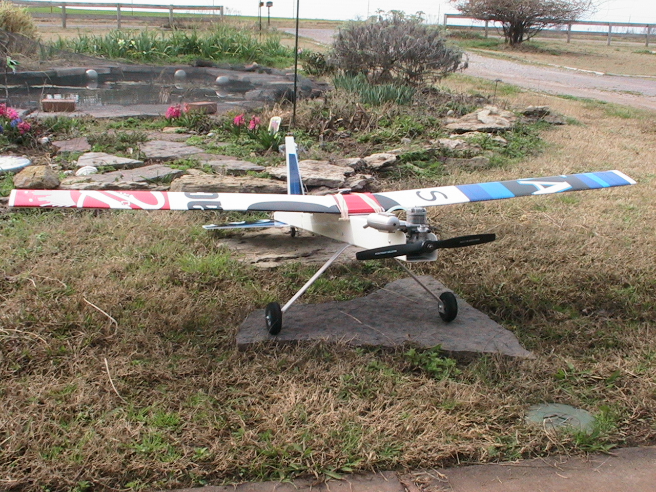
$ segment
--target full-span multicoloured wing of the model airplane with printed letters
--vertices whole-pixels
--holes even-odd
[[[438,186],[398,192],[338,195],[187,193],[96,190],[12,190],[10,207],[93,209],[288,211],[348,215],[390,209],[451,205],[527,195],[547,195],[636,184],[620,171],[564,174],[478,184]]]

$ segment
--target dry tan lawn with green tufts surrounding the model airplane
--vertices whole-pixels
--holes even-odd
[[[638,185],[432,211],[443,236],[499,241],[417,270],[536,355],[462,361],[443,380],[403,351],[238,352],[245,315],[288,298],[310,269],[239,264],[200,229],[209,213],[1,215],[0,487],[150,491],[655,443],[656,118],[506,96],[529,103],[581,124],[546,131],[541,155],[440,184],[621,169]],[[429,183],[386,183],[418,184]],[[336,267],[304,302],[401,275],[379,266]],[[592,411],[598,432],[527,426],[528,405],[543,401]]]

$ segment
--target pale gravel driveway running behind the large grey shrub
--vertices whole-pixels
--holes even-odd
[[[293,29],[285,29],[293,33]],[[335,31],[327,29],[300,29],[303,37],[329,44]],[[622,75],[596,75],[565,68],[521,64],[498,58],[487,58],[468,53],[469,67],[463,73],[484,79],[501,79],[530,89],[550,94],[598,99],[634,108],[656,111],[656,79],[626,77]]]

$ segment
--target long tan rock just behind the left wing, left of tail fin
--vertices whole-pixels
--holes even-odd
[[[287,186],[274,180],[254,178],[253,176],[185,174],[173,180],[170,190],[172,192],[286,194]]]

